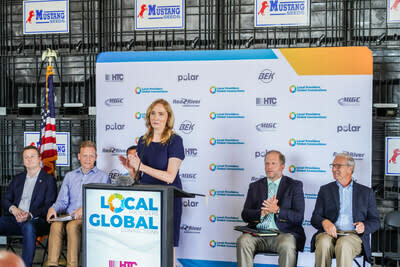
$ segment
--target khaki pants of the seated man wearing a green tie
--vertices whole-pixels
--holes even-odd
[[[280,267],[295,267],[297,264],[296,239],[292,234],[266,237],[241,235],[236,241],[238,267],[253,267],[256,252],[278,253]]]

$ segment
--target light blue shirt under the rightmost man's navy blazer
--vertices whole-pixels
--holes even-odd
[[[353,225],[353,180],[346,187],[336,182],[339,187],[340,209],[339,217],[335,222],[338,230],[351,231],[354,230]]]

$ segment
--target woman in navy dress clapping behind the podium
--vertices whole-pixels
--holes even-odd
[[[166,100],[158,99],[147,108],[147,132],[139,139],[136,155],[128,156],[129,165],[142,172],[142,184],[173,185],[182,189],[179,167],[185,151],[182,138],[172,131],[173,126],[174,113]],[[174,247],[179,244],[181,217],[182,200],[175,198]]]

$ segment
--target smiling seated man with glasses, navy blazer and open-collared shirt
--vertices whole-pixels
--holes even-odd
[[[331,266],[335,255],[338,267],[352,266],[362,247],[370,261],[369,236],[380,227],[374,192],[352,180],[354,159],[350,155],[337,154],[330,165],[336,181],[321,186],[311,218],[318,230],[311,240],[315,264]]]

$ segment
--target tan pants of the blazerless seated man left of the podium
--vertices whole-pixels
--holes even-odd
[[[77,267],[79,264],[78,255],[82,238],[82,220],[72,220],[69,222],[53,222],[51,224],[48,255],[49,266],[58,266],[65,230],[67,232],[67,266]]]

